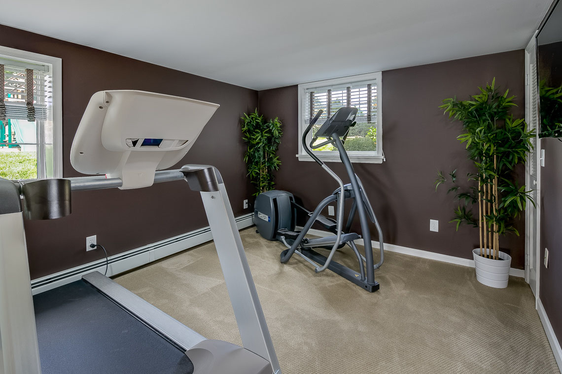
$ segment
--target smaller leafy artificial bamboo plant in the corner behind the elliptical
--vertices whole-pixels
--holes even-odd
[[[273,190],[275,186],[273,170],[278,170],[281,161],[275,155],[281,142],[282,123],[277,117],[266,120],[255,112],[242,117],[242,140],[247,150],[244,161],[248,167],[247,176],[256,187],[255,196]]]

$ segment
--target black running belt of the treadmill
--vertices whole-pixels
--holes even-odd
[[[192,374],[180,350],[83,280],[34,295],[42,374]]]

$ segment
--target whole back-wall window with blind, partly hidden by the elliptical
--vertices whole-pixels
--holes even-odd
[[[355,107],[358,109],[355,119],[357,124],[348,133],[344,145],[347,154],[352,162],[382,163],[381,76],[382,73],[377,72],[298,85],[299,160],[312,161],[302,148],[301,138],[319,109],[324,113],[312,128],[306,141],[307,146],[321,124],[339,108]],[[323,140],[319,138],[318,143]],[[322,161],[339,161],[339,154],[332,145],[313,151]]]

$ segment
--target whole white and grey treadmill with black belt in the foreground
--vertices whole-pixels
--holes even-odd
[[[70,156],[76,170],[97,176],[0,178],[0,374],[281,373],[219,171],[163,170],[183,158],[217,108],[178,96],[100,91]],[[79,191],[180,180],[200,192],[243,347],[206,339],[98,271],[32,297],[24,215],[69,215]]]

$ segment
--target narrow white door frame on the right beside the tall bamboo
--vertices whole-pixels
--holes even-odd
[[[532,100],[532,95],[531,95],[531,89],[532,89],[532,85],[537,85],[537,81],[532,79],[532,75],[531,75],[531,55],[530,53],[537,53],[537,33],[534,33],[533,37],[531,38],[531,40],[529,41],[529,44],[527,45],[527,48],[525,48],[525,121],[527,123],[531,122],[531,100]],[[538,64],[538,61],[536,61],[536,63]],[[537,73],[538,74],[538,73]],[[538,90],[538,87],[537,87]],[[537,99],[538,99],[538,93],[537,93]],[[538,109],[537,109],[538,112]],[[538,113],[536,114],[538,116]],[[538,131],[540,131],[540,123],[537,120],[537,135],[536,135],[536,150],[537,150],[537,157],[536,160],[534,160],[536,162],[536,174],[537,174],[537,184],[536,186],[532,186],[531,185],[531,176],[529,174],[529,165],[527,164],[525,167],[525,184],[531,188],[534,188],[537,190],[536,193],[536,214],[537,214],[537,223],[536,223],[536,227],[533,227],[532,229],[534,229],[535,234],[535,238],[536,238],[536,243],[534,243],[536,245],[536,255],[533,258],[533,262],[534,264],[534,268],[536,270],[536,283],[535,283],[535,289],[534,291],[534,295],[536,300],[538,301],[539,299],[539,284],[540,284],[540,270],[541,270],[541,140],[538,137]],[[529,158],[527,163],[532,162],[532,158]],[[527,206],[532,206],[531,204],[527,205]],[[531,223],[531,219],[529,219],[529,216],[531,215],[531,211],[529,209],[525,210],[525,281],[527,281],[527,283],[529,283],[529,271],[530,271],[530,264],[529,264],[529,259],[530,259],[530,248],[532,246],[531,241],[533,240],[532,236],[528,236],[527,235],[527,228],[529,227],[529,225],[532,225]]]

